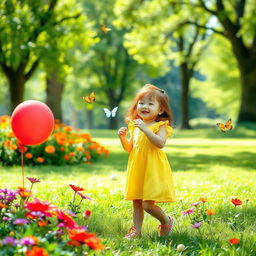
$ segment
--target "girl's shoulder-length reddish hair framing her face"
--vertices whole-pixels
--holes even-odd
[[[147,95],[150,98],[156,99],[159,103],[161,110],[163,111],[161,115],[158,115],[156,117],[155,121],[159,122],[168,120],[169,125],[171,125],[173,119],[172,111],[170,108],[169,96],[163,89],[160,89],[152,84],[146,84],[139,90],[131,107],[129,108],[125,115],[125,122],[128,123],[129,121],[140,118],[137,114],[137,104],[145,95]]]

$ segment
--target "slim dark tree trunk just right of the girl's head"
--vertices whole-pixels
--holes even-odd
[[[187,63],[180,65],[181,78],[181,129],[190,129],[189,125],[189,69]]]

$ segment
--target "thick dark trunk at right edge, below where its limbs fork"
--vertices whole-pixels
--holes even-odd
[[[239,62],[239,60],[238,60]],[[240,79],[242,86],[241,107],[238,123],[256,122],[256,60],[247,58],[240,65]]]

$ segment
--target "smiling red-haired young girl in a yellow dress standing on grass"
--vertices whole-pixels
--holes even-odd
[[[168,235],[174,219],[155,203],[175,201],[171,167],[162,151],[166,138],[172,134],[172,113],[169,97],[162,89],[146,84],[137,94],[127,115],[127,128],[121,127],[118,136],[125,151],[130,153],[127,167],[126,200],[133,201],[133,223],[125,236],[141,236],[144,211],[161,223],[159,236]]]

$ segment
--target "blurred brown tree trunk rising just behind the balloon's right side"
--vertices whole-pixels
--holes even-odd
[[[52,110],[54,118],[62,121],[61,101],[64,84],[59,81],[56,72],[47,74],[46,104]]]

